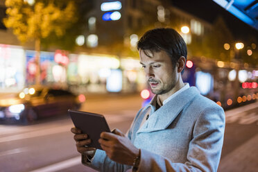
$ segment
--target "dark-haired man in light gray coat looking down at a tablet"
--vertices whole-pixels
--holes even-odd
[[[182,82],[184,40],[172,28],[156,28],[141,37],[137,49],[155,96],[139,110],[127,135],[101,133],[103,150],[85,147],[90,139],[71,128],[83,164],[98,171],[217,171],[225,114]]]

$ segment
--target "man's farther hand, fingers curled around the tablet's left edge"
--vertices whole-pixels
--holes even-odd
[[[87,147],[88,144],[91,143],[91,139],[88,139],[87,134],[81,134],[81,130],[78,128],[71,128],[71,132],[73,132],[74,140],[76,141],[76,148],[78,153],[81,153],[83,155],[94,155],[94,151],[96,148]]]

